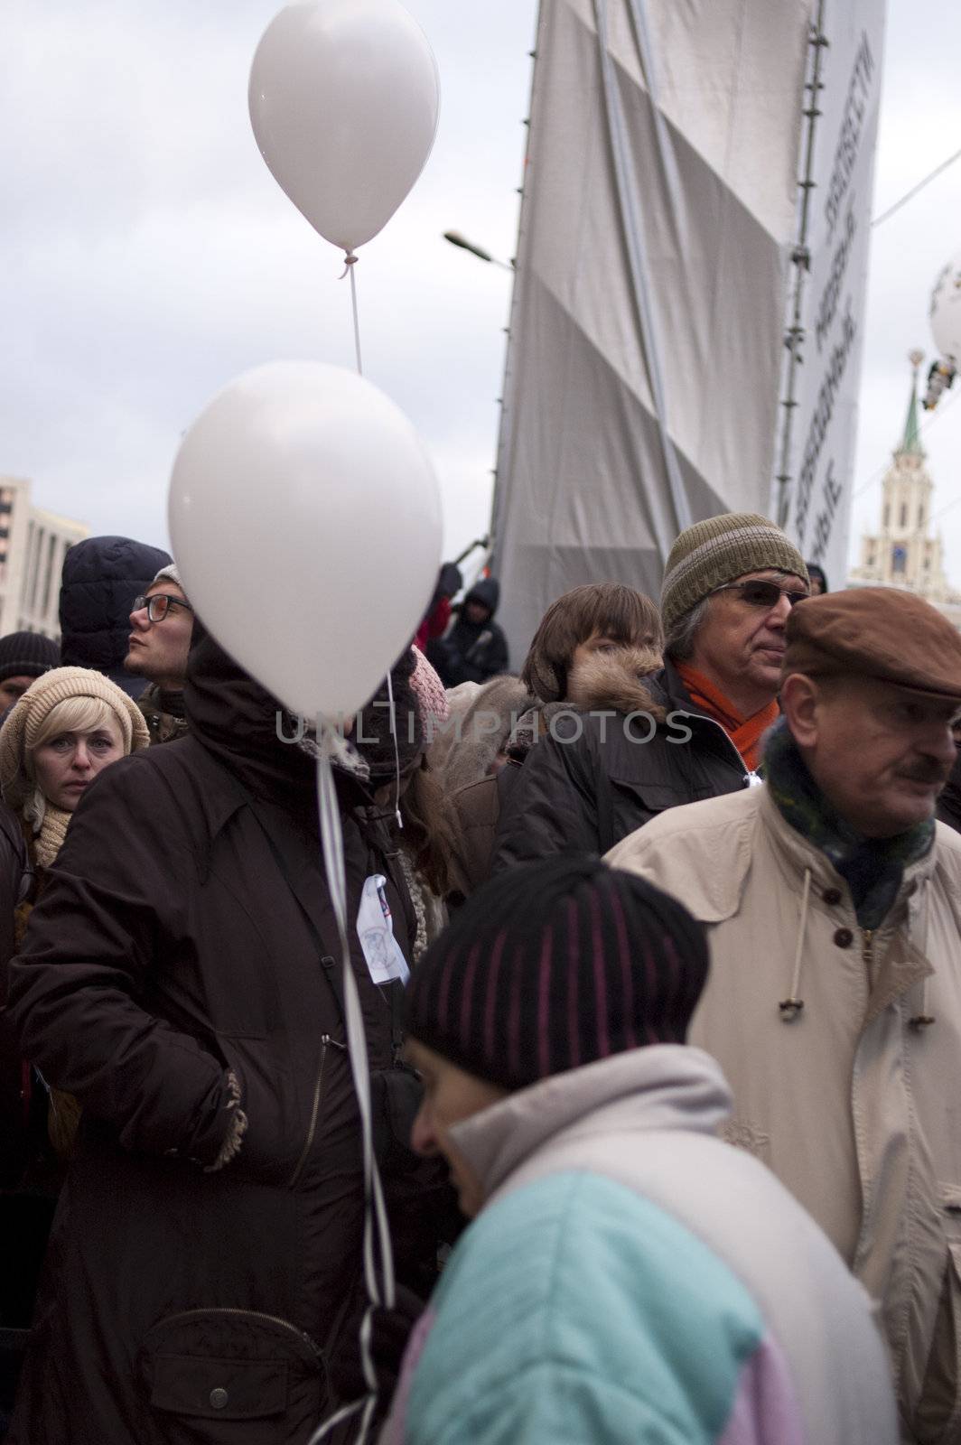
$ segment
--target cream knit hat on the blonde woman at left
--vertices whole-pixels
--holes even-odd
[[[30,683],[0,728],[0,792],[13,808],[23,803],[36,786],[26,773],[25,757],[33,750],[42,722],[58,702],[68,698],[105,702],[120,725],[124,753],[136,753],[149,744],[150,734],[140,708],[116,682],[92,668],[53,668]]]

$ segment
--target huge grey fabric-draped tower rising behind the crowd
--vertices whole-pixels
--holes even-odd
[[[882,7],[543,0],[493,517],[516,659],[569,587],[614,579],[658,597],[671,543],[692,520],[783,504],[803,523],[796,533],[814,535],[821,457],[803,516],[793,500],[812,425],[801,332],[824,270],[816,249],[837,240],[822,241],[827,224],[811,212],[819,217],[827,195],[801,182],[831,172],[837,137],[827,131],[844,107],[818,19],[829,32],[829,12],[844,10],[847,45],[857,29],[848,17],[864,13],[876,68]],[[837,84],[847,90],[845,69]],[[871,150],[866,117],[861,162]],[[805,194],[816,197],[806,251]],[[869,199],[864,178],[857,195],[835,197],[832,234]],[[860,241],[866,211],[858,225]],[[861,262],[853,243],[841,325],[847,309],[860,316]],[[835,342],[819,341],[831,357]],[[856,351],[857,337],[845,386]],[[835,418],[851,409],[853,394],[850,406],[835,396]],[[844,464],[837,457],[835,484],[850,451]],[[843,510],[835,501],[834,527]]]

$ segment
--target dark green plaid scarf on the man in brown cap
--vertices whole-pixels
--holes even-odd
[[[819,848],[845,880],[858,925],[879,928],[897,897],[905,868],[931,851],[934,818],[925,818],[895,838],[863,838],[854,832],[808,772],[785,718],[767,734],[764,776],[780,815]]]

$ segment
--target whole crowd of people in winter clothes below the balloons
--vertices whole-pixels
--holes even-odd
[[[736,513],[497,604],[334,764],[376,1308],[315,737],[129,539],[0,637],[10,1445],[961,1445],[961,634]]]

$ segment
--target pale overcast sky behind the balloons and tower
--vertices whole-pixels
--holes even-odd
[[[0,473],[40,506],[166,543],[178,438],[276,358],[353,364],[347,283],[263,165],[247,75],[277,0],[7,0],[0,55]],[[425,436],[448,552],[487,526],[535,0],[408,0],[438,58],[441,127],[357,267],[366,374]],[[961,147],[961,6],[889,10],[876,212]],[[932,16],[934,19],[934,16]],[[903,425],[906,353],[931,351],[936,272],[961,250],[961,162],[876,233],[853,533],[873,526]],[[961,585],[961,386],[925,447]]]

